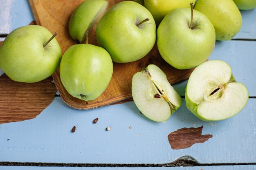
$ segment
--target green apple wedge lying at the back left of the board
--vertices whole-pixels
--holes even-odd
[[[89,33],[94,25],[99,22],[108,7],[106,0],[85,0],[72,13],[69,22],[69,32],[74,40],[83,43],[85,32]]]

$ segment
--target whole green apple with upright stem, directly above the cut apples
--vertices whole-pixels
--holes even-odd
[[[193,10],[193,29],[189,28],[191,9],[169,12],[157,29],[160,55],[177,69],[189,69],[206,61],[215,46],[215,30],[210,20]]]

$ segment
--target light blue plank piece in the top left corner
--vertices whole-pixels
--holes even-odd
[[[34,20],[28,0],[1,0],[0,4],[0,34],[10,33]]]

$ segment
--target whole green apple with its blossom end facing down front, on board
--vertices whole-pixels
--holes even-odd
[[[73,97],[93,100],[107,88],[113,73],[109,53],[91,44],[76,44],[67,49],[61,60],[63,86]]]

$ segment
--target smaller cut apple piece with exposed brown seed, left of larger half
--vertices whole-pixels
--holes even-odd
[[[154,64],[132,77],[132,98],[141,113],[153,121],[166,121],[182,104],[164,72]]]

